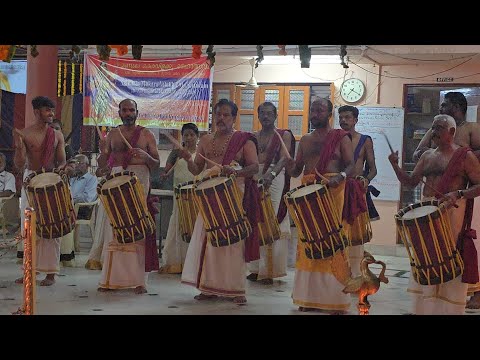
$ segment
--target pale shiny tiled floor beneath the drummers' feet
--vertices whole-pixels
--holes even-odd
[[[180,275],[165,275],[152,272],[148,275],[148,293],[135,295],[133,291],[97,292],[100,271],[86,270],[90,239],[82,238],[82,251],[77,255],[77,267],[61,269],[57,283],[50,287],[37,286],[37,314],[135,314],[135,315],[322,315],[320,312],[302,313],[291,298],[294,269],[288,276],[265,286],[247,281],[245,306],[228,300],[197,301],[193,297],[198,291],[180,283]],[[0,249],[0,255],[5,250]],[[375,255],[375,254],[374,254]],[[402,315],[410,312],[410,297],[406,286],[409,276],[408,259],[395,256],[375,256],[387,265],[388,284],[381,284],[380,290],[369,297],[370,315]],[[10,251],[0,257],[0,314],[16,311],[22,304],[22,286],[14,279],[20,276],[20,266],[16,264],[15,252]],[[378,273],[380,266],[371,266]],[[43,278],[44,275],[40,277]],[[356,314],[356,301],[352,297],[350,314]]]

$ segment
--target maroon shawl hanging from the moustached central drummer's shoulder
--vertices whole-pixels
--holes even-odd
[[[248,140],[252,140],[258,149],[257,139],[252,133],[235,131],[223,156],[222,165],[229,165]],[[242,205],[247,213],[248,221],[252,226],[252,234],[245,239],[246,262],[260,259],[260,241],[258,239],[258,222],[260,220],[259,203],[260,193],[257,184],[253,181],[252,177],[245,178],[245,192]]]

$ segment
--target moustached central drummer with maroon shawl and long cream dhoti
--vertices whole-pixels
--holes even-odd
[[[232,101],[221,99],[213,108],[216,131],[200,138],[195,159],[186,149],[180,151],[188,162],[188,169],[194,175],[212,168],[204,157],[222,165],[221,174],[236,175],[240,189],[244,183],[243,207],[247,213],[252,233],[245,241],[228,246],[212,246],[207,241],[204,221],[199,214],[194,225],[192,238],[187,250],[182,272],[182,283],[195,286],[201,293],[197,300],[224,296],[233,298],[237,304],[246,303],[245,272],[246,262],[260,257],[258,231],[258,187],[252,176],[258,173],[256,139],[251,133],[235,131],[233,124],[238,108]],[[200,155],[200,156],[199,156]],[[236,161],[242,169],[230,166]],[[219,204],[219,207],[223,206]]]

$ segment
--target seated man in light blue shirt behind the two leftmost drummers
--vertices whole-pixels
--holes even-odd
[[[67,174],[70,176],[70,192],[73,202],[85,203],[97,199],[97,177],[88,171],[88,157],[83,154],[75,155],[69,160],[66,167]],[[93,207],[82,206],[78,210],[78,219],[89,219],[92,215]],[[60,261],[63,266],[73,266],[75,259],[74,232],[65,235],[62,238],[60,248]]]

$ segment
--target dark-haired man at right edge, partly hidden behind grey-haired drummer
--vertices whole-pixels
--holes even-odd
[[[455,119],[457,131],[455,132],[454,142],[457,145],[469,147],[477,155],[477,158],[480,158],[480,124],[467,122],[467,99],[465,95],[457,91],[448,92],[440,104],[439,111],[440,114],[450,115]],[[426,150],[435,147],[436,145],[432,141],[432,130],[429,129],[413,153],[413,161],[417,162]],[[472,228],[480,231],[480,204],[478,199],[475,200]],[[480,237],[475,241],[475,247],[480,256]],[[467,302],[467,308],[480,309],[480,283],[469,286],[469,293],[472,292],[474,295]]]

